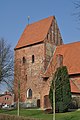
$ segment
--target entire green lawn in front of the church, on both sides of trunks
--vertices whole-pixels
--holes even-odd
[[[0,113],[17,115],[17,110],[0,110]],[[20,116],[31,117],[31,118],[40,118],[43,120],[53,120],[52,114],[45,114],[42,110],[20,110]],[[57,113],[56,120],[80,120],[80,111],[67,112],[67,113]]]

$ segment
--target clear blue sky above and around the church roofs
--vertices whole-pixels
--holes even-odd
[[[77,0],[0,0],[0,38],[12,48],[30,23],[55,15],[64,43],[80,41],[79,21],[73,2]]]

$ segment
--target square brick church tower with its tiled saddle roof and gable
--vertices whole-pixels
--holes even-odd
[[[26,26],[14,49],[15,101],[20,93],[20,101],[27,107],[44,107],[41,106],[41,93],[46,82],[42,74],[56,46],[61,44],[63,41],[54,16]]]

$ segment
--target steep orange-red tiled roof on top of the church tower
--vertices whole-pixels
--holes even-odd
[[[15,49],[44,41],[53,19],[54,17],[50,16],[27,25]]]

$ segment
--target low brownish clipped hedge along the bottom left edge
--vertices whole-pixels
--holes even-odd
[[[0,120],[40,120],[40,119],[33,119],[27,118],[23,116],[15,116],[15,115],[7,115],[7,114],[0,114]]]

